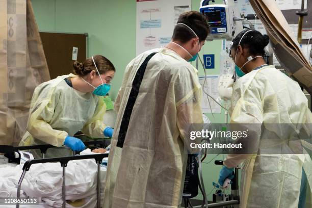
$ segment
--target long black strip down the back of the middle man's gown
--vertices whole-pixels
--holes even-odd
[[[130,92],[130,95],[129,95],[123,116],[122,116],[121,124],[120,124],[117,147],[120,147],[120,148],[123,147],[123,143],[125,140],[125,136],[127,134],[132,110],[133,110],[133,107],[135,105],[135,102],[136,102],[138,94],[139,94],[140,86],[141,86],[141,83],[143,80],[143,76],[145,73],[147,63],[155,54],[156,53],[151,53],[150,55],[148,55],[148,57],[146,57],[146,59],[143,61],[140,68],[138,69],[136,76],[132,82],[132,89],[131,89],[131,92]]]

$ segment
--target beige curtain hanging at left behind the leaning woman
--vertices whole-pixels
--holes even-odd
[[[0,145],[19,143],[34,89],[49,79],[30,0],[0,0]]]

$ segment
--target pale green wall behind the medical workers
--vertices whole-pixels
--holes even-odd
[[[222,1],[216,1],[219,3]],[[200,0],[192,0],[192,10],[199,11]],[[116,67],[111,96],[115,99],[121,85],[125,66],[136,56],[136,1],[135,0],[32,0],[36,21],[40,31],[88,33],[89,55],[101,54]],[[215,69],[207,74],[219,74],[221,41],[206,42],[200,52],[215,54]],[[204,75],[199,67],[199,75]],[[224,121],[224,111],[207,114],[213,123]],[[209,162],[215,155],[207,155]],[[214,160],[222,160],[219,155]],[[207,194],[212,190],[212,181],[218,180],[220,166],[203,164],[203,175]],[[201,195],[198,196],[202,198]],[[210,194],[209,199],[212,199]]]

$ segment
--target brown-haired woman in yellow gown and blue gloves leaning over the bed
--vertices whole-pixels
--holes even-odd
[[[74,62],[73,68],[75,74],[58,76],[36,87],[27,132],[20,146],[66,145],[82,151],[84,143],[73,137],[80,130],[93,138],[112,137],[113,129],[102,121],[106,106],[100,96],[110,90],[114,65],[107,58],[96,55],[83,63]],[[33,153],[40,157],[37,152]],[[62,153],[54,150],[46,155],[60,157]]]

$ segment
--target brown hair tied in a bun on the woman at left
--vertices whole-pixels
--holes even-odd
[[[101,55],[95,55],[93,56],[93,59],[100,74],[106,73],[108,71],[116,71],[112,62],[110,62],[110,60],[107,58]],[[74,68],[74,73],[79,76],[85,76],[92,70],[96,71],[92,58],[86,59],[83,63],[75,61],[72,66]]]

